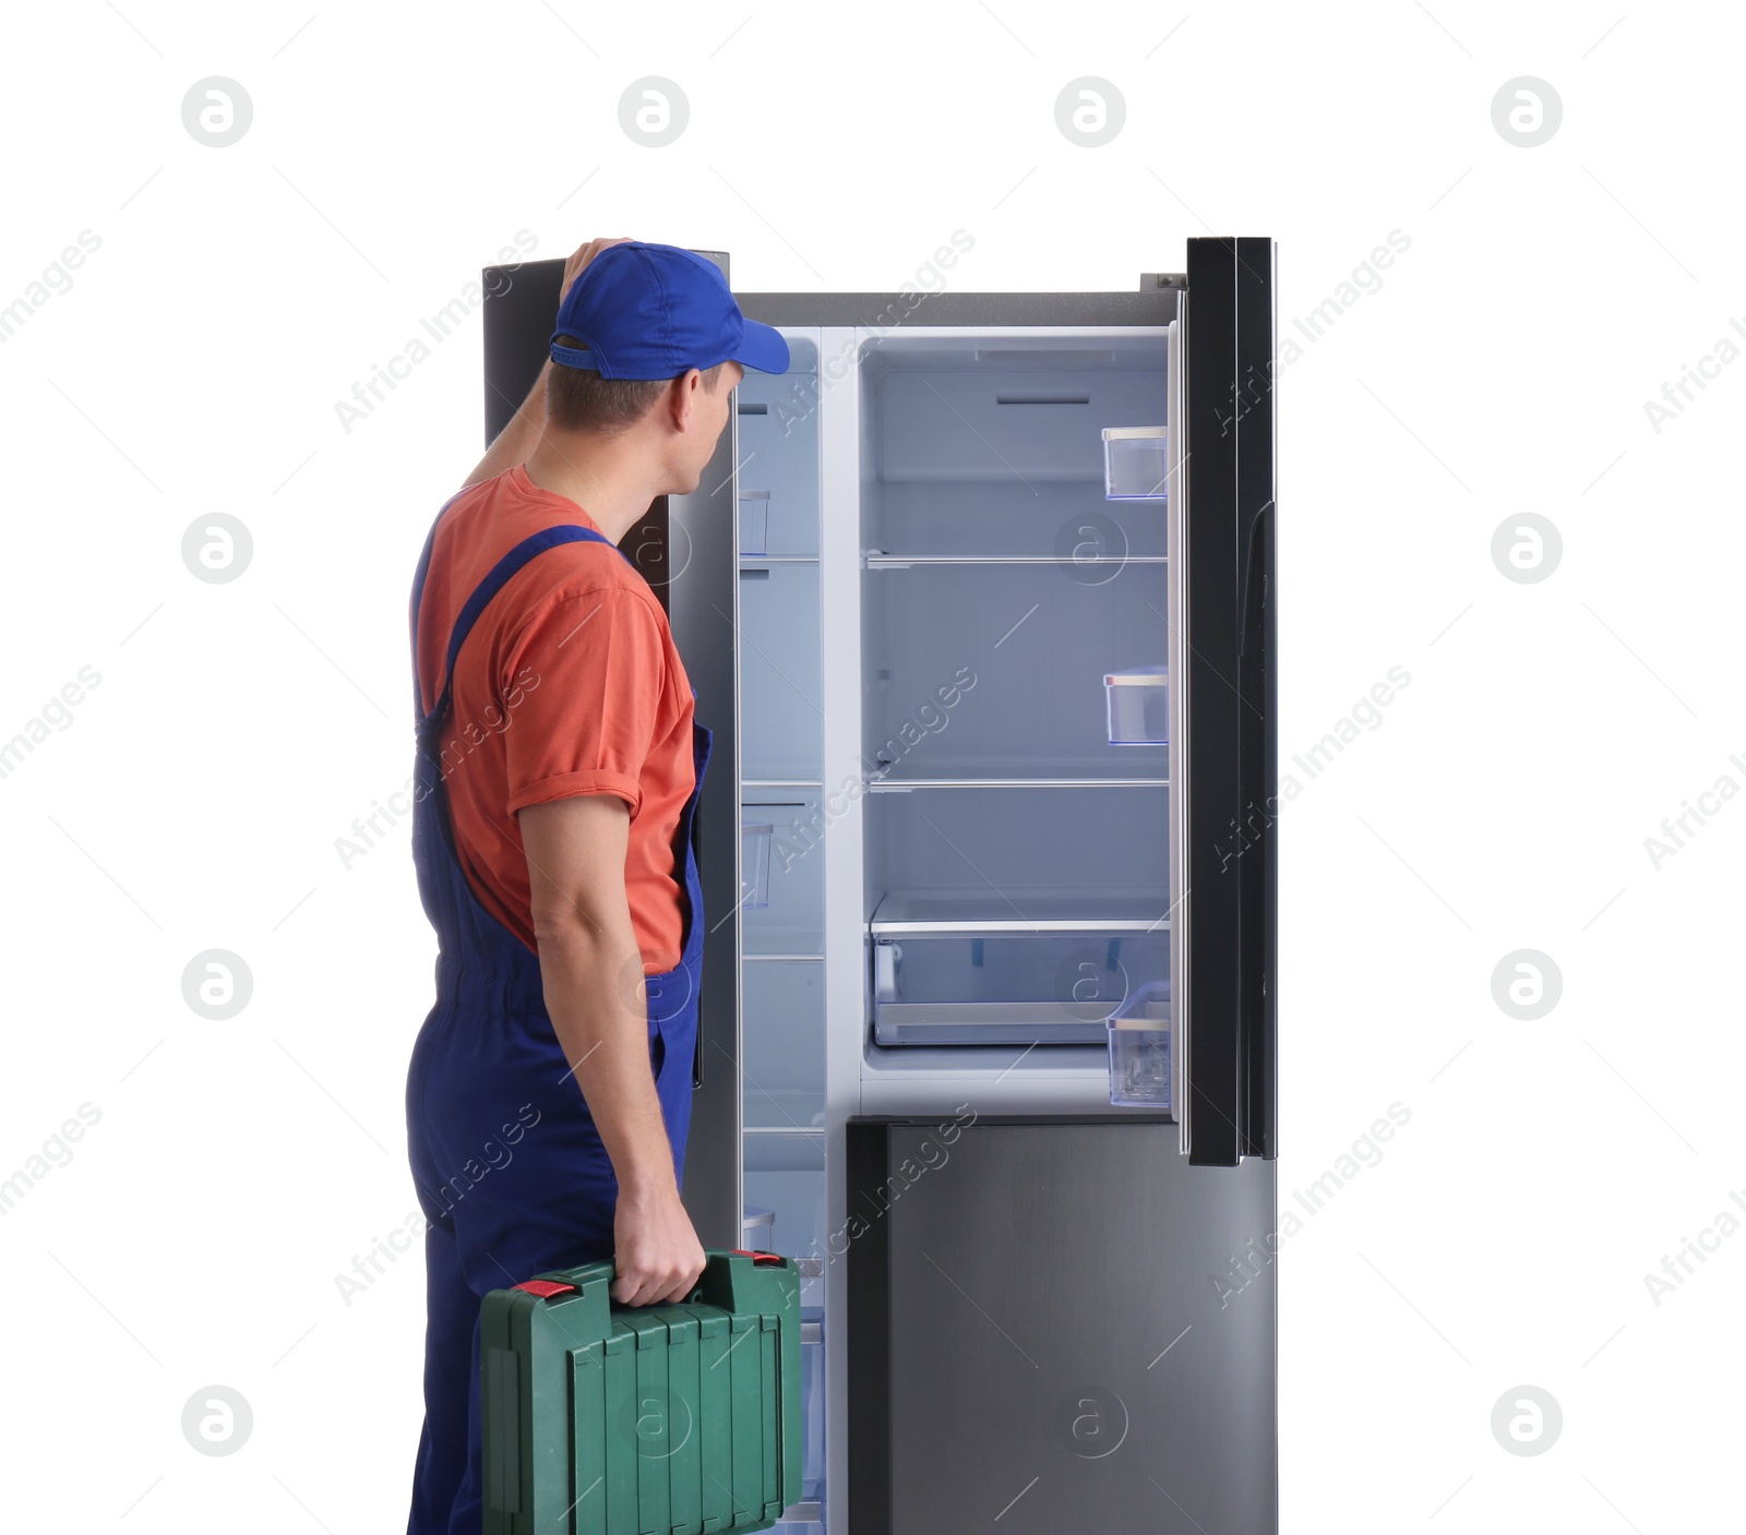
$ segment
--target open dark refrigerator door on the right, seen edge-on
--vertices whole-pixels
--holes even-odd
[[[1182,1151],[1275,1154],[1275,244],[1191,239],[1172,354],[1172,987]]]

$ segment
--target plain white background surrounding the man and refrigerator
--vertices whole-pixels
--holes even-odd
[[[101,1118],[0,1221],[7,1523],[405,1519],[419,1261],[349,1306],[335,1275],[414,1210],[433,938],[405,824],[349,870],[335,838],[410,772],[407,590],[482,447],[477,313],[349,433],[335,402],[517,231],[826,292],[955,229],[966,290],[1271,234],[1282,339],[1411,239],[1280,377],[1282,758],[1411,674],[1283,812],[1282,1212],[1411,1114],[1282,1247],[1283,1528],[1736,1521],[1746,1235],[1660,1304],[1645,1275],[1746,1187],[1746,803],[1659,868],[1645,838],[1746,786],[1746,365],[1659,431],[1645,402],[1746,323],[1746,30],[1620,3],[12,10],[0,739],[101,681],[0,779],[0,1175]],[[225,148],[182,122],[208,75],[253,101]],[[618,126],[643,75],[690,100],[670,147]],[[1055,122],[1079,75],[1126,101],[1102,148]],[[1519,75],[1563,101],[1535,148],[1491,120]],[[1563,538],[1538,583],[1491,559],[1528,512]],[[180,554],[213,513],[253,538],[227,585]],[[208,948],[253,974],[229,1022],[183,1002]],[[1517,948],[1563,974],[1531,1022],[1491,992]],[[180,1427],[211,1383],[255,1415],[225,1458]],[[1519,1385],[1563,1409],[1538,1456],[1491,1432]]]

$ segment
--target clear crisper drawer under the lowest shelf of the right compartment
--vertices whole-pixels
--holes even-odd
[[[1103,1044],[1109,1015],[1170,973],[1158,931],[873,936],[876,1044]]]

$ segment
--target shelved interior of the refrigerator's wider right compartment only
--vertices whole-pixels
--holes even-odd
[[[1170,749],[1112,746],[1105,695],[1165,662],[1166,503],[1109,499],[1103,449],[1168,424],[1165,332],[861,358],[870,1065],[1083,1076],[1168,980]]]

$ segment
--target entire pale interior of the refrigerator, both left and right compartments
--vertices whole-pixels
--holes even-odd
[[[815,1476],[780,1526],[800,1535],[822,1519],[821,1392],[840,1388],[845,1111],[875,1105],[882,1063],[920,1105],[1021,1062],[1027,1102],[1119,1112],[1103,1020],[1168,974],[1168,746],[1110,746],[1103,686],[1165,660],[1165,501],[1107,499],[1102,440],[1166,424],[1166,342],[784,334],[789,372],[749,372],[735,409],[739,985],[746,1203],[807,1275]],[[826,660],[845,651],[852,674]],[[828,718],[840,740],[849,716],[859,751],[828,756]],[[861,1008],[829,981],[826,952],[847,955],[826,910],[859,919]]]

